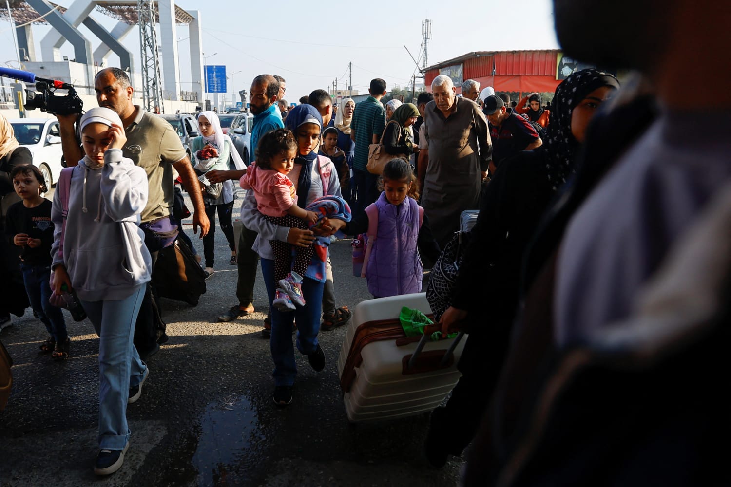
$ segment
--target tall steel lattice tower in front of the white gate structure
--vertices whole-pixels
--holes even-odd
[[[162,84],[160,76],[160,57],[157,48],[155,24],[157,15],[153,0],[137,0],[137,17],[140,26],[140,50],[142,51],[143,106],[148,112],[154,107],[164,110],[162,105]]]

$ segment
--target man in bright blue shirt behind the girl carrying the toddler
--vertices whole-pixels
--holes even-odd
[[[254,114],[254,126],[251,128],[251,146],[249,147],[249,163],[257,159],[257,145],[261,137],[268,131],[283,129],[284,123],[276,107],[279,96],[279,83],[271,74],[260,74],[251,82],[249,89],[249,110]],[[224,180],[240,180],[246,173],[243,171],[210,171],[207,173],[211,182]],[[243,227],[238,241],[238,280],[236,282],[236,296],[238,304],[235,304],[219,316],[219,321],[233,321],[240,316],[249,315],[254,312],[254,281],[257,279],[257,266],[259,255],[251,250],[254,240],[257,239],[257,232]],[[269,329],[265,329],[268,335]]]

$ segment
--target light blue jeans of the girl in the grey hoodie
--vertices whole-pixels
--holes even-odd
[[[109,301],[82,301],[99,335],[99,448],[122,450],[129,440],[129,388],[140,384],[147,366],[132,345],[135,322],[146,284],[129,297]]]

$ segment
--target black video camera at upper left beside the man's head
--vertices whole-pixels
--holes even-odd
[[[48,112],[51,115],[72,115],[81,113],[83,101],[79,98],[74,85],[64,83],[58,80],[47,80],[45,78],[36,77],[34,73],[22,71],[20,69],[10,69],[0,67],[0,76],[9,77],[14,80],[25,81],[26,83],[35,83],[38,90],[26,90],[26,109],[35,110],[38,108],[42,112]],[[56,90],[66,90],[65,96],[54,94]]]

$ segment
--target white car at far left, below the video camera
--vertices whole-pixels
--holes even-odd
[[[40,169],[51,188],[64,169],[64,150],[56,118],[14,118],[10,120],[15,139],[33,154],[33,165]]]

